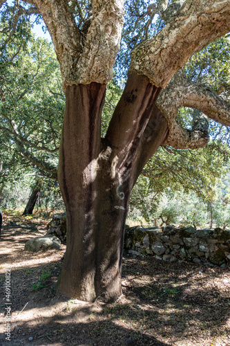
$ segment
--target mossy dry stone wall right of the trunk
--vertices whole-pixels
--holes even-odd
[[[224,267],[230,260],[230,231],[173,225],[163,228],[126,226],[124,248],[135,255],[155,255],[158,260],[188,260]]]

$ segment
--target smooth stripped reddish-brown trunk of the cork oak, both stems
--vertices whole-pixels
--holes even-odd
[[[58,178],[66,206],[67,233],[59,291],[69,298],[94,300],[102,296],[109,302],[122,294],[121,266],[128,200],[137,178],[135,171],[137,167],[140,170],[137,158],[142,135],[157,95],[147,78],[136,76],[129,81],[115,111],[120,121],[114,120],[116,129],[120,127],[118,136],[124,134],[120,140],[111,138],[111,130],[106,139],[100,137],[105,84],[93,82],[66,89]],[[134,93],[129,97],[127,93],[132,85]],[[142,91],[143,98],[137,98],[135,93],[142,87],[146,88]],[[128,122],[133,122],[128,116],[134,116],[133,112],[142,119],[137,121],[133,133],[124,138]],[[156,126],[154,129],[155,136],[160,136],[156,141],[159,147],[165,139],[165,129],[164,135]],[[113,141],[117,141],[117,145]]]

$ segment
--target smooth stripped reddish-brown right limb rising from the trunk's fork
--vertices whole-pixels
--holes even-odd
[[[144,75],[128,75],[106,134],[119,157],[117,169],[133,161],[159,92],[160,88],[155,88]]]

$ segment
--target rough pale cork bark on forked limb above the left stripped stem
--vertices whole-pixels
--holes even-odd
[[[55,46],[63,87],[107,83],[122,35],[124,0],[92,1],[87,33],[79,30],[66,0],[29,0],[39,9]]]

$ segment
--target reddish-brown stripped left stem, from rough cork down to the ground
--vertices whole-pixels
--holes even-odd
[[[60,290],[68,297],[95,298],[95,194],[101,113],[106,86],[66,89],[58,178],[66,206],[66,255]]]

